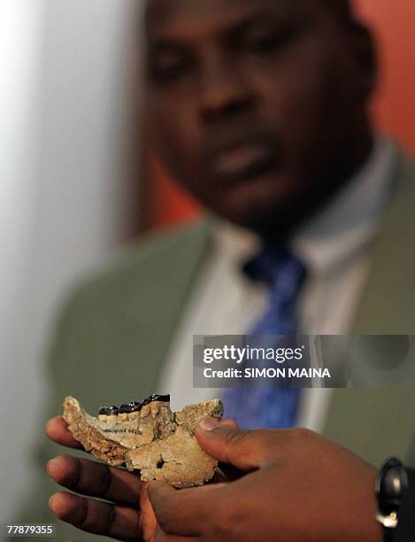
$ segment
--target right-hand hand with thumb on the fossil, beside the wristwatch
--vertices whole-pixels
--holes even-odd
[[[180,492],[151,483],[157,541],[381,542],[375,469],[340,446],[308,430],[242,431],[211,418],[196,437],[248,474]]]

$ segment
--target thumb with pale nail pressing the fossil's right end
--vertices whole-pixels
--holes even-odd
[[[273,451],[273,431],[239,430],[230,420],[204,418],[196,425],[196,438],[211,457],[244,471],[262,467]]]

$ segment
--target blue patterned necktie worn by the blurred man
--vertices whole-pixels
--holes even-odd
[[[269,288],[265,314],[250,335],[295,335],[296,301],[305,278],[301,262],[286,248],[265,248],[244,271]],[[300,390],[294,388],[229,388],[224,395],[225,414],[243,429],[289,428],[296,424],[299,399]]]

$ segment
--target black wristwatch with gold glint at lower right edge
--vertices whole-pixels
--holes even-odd
[[[393,540],[399,518],[398,510],[408,489],[408,475],[401,461],[392,458],[380,469],[375,492],[378,500],[376,520],[383,527],[385,542]]]

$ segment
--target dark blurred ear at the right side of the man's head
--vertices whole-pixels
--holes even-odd
[[[378,52],[372,32],[365,24],[353,21],[350,27],[350,46],[360,77],[362,98],[371,97],[378,84]]]

